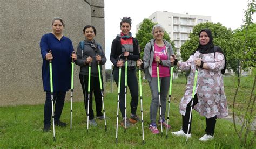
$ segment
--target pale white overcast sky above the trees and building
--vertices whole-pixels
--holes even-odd
[[[111,69],[109,59],[111,44],[120,33],[120,20],[131,17],[131,33],[135,37],[136,25],[156,11],[211,16],[213,23],[221,23],[228,29],[240,27],[247,9],[247,0],[105,0],[105,54],[106,69]],[[253,15],[256,22],[256,15]]]

